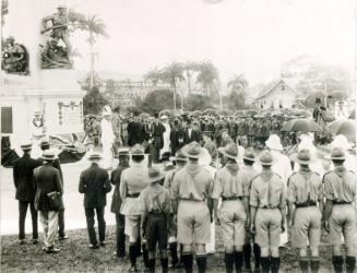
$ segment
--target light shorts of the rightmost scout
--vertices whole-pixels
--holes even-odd
[[[329,240],[331,245],[341,245],[341,235],[347,247],[356,246],[356,212],[352,204],[334,204],[330,216]]]

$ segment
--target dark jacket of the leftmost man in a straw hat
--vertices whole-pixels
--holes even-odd
[[[34,183],[34,169],[40,164],[31,158],[29,154],[16,159],[13,165],[13,181],[16,188],[15,198],[20,201],[33,202],[35,200],[36,187]]]

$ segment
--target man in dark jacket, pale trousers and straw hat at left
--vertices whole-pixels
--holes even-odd
[[[47,150],[44,152],[43,158],[44,165],[34,170],[34,180],[37,187],[35,207],[39,211],[39,219],[44,228],[44,250],[47,253],[57,253],[60,251],[55,247],[60,207],[58,195],[63,193],[62,181],[58,169],[53,168],[51,164],[55,153]]]

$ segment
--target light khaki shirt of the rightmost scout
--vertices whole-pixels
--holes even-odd
[[[336,167],[323,177],[324,195],[336,202],[354,202],[356,195],[356,175],[345,167]]]

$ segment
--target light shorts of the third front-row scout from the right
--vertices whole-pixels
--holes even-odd
[[[255,242],[260,247],[278,247],[282,233],[281,211],[278,209],[258,209],[255,230]]]

